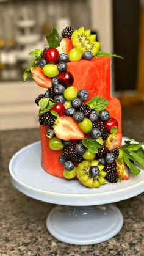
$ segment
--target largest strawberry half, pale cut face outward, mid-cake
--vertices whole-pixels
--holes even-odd
[[[59,117],[54,127],[54,133],[58,139],[64,139],[65,141],[84,138],[84,133],[72,117]]]

